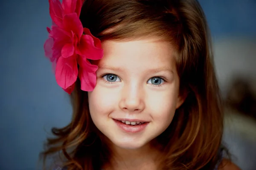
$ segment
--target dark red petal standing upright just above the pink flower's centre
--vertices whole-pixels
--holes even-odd
[[[71,30],[79,37],[83,34],[83,25],[76,13],[64,15],[63,26],[65,30]]]

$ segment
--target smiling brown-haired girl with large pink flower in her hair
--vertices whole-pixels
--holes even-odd
[[[196,0],[49,0],[44,48],[73,119],[44,159],[63,170],[237,170]],[[104,52],[103,52],[104,51]],[[57,162],[57,161],[56,161]]]

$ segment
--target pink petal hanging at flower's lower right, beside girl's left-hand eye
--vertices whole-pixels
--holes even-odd
[[[83,56],[79,56],[79,79],[81,81],[81,90],[91,92],[96,86],[96,70],[98,66],[90,64]]]

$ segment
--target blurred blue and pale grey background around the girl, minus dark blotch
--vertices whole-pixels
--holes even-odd
[[[234,77],[256,79],[256,0],[200,3],[212,32],[225,98]],[[56,84],[44,57],[46,27],[51,26],[48,0],[0,0],[0,21],[0,170],[34,170],[47,132],[64,126],[71,116],[69,97]],[[251,118],[241,119],[230,124],[237,129],[246,129],[244,122],[254,124]],[[254,127],[247,129],[255,134]],[[237,129],[226,128],[224,141],[236,164],[256,170],[256,138]]]

